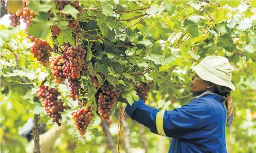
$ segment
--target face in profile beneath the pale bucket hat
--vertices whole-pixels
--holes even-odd
[[[190,81],[190,91],[193,93],[201,94],[207,91],[208,81],[201,79],[198,75],[194,75]]]

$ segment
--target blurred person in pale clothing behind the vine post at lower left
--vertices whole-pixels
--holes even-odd
[[[23,137],[27,138],[29,144],[26,146],[27,153],[33,153],[34,149],[34,140],[32,135],[32,129],[34,126],[34,121],[32,118],[29,118],[27,122],[24,124],[22,129],[20,130],[19,134]],[[54,124],[48,131],[46,131],[46,124],[42,124],[40,128],[40,135],[39,135],[39,144],[40,144],[40,151],[43,153],[54,153],[53,145],[57,138],[60,137],[61,133],[65,131],[64,125],[59,127],[58,125]]]

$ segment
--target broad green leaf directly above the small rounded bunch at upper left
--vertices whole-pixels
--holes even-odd
[[[27,28],[29,35],[46,39],[48,32],[50,31],[50,23],[47,22],[48,18],[48,13],[41,12],[36,15],[36,18],[31,21]]]

